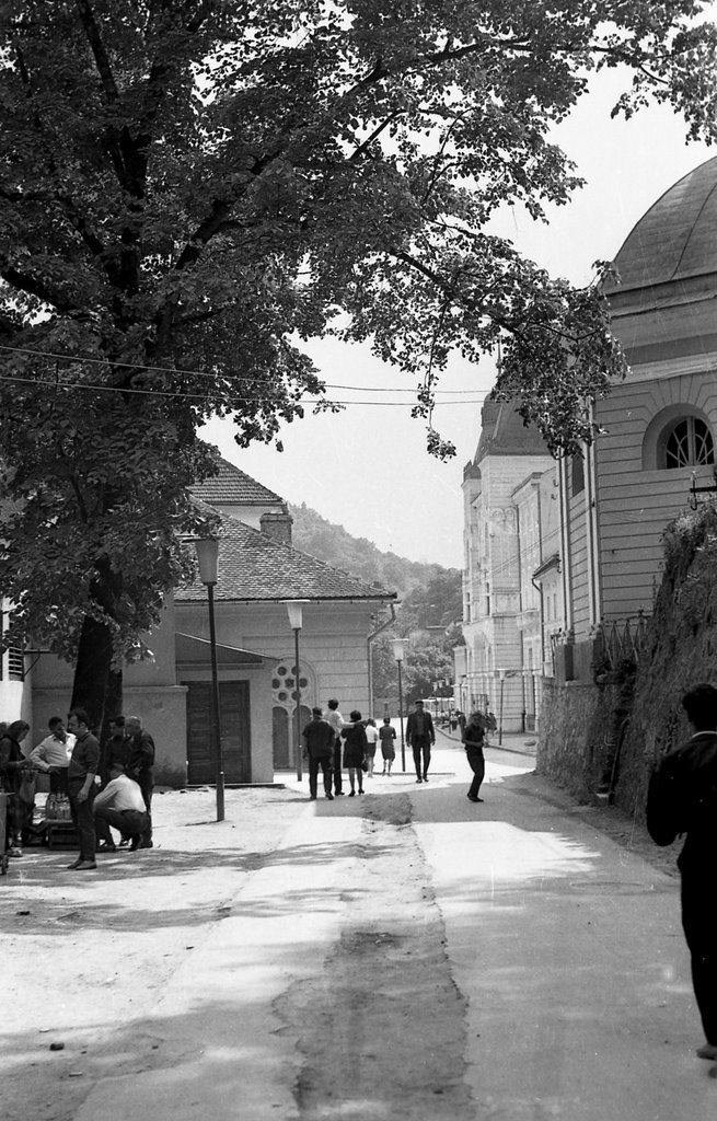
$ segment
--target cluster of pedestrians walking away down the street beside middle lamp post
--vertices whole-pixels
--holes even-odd
[[[389,716],[381,728],[372,717],[363,720],[358,710],[350,713],[345,721],[338,710],[338,701],[328,702],[328,712],[319,706],[311,708],[311,720],[304,729],[304,753],[309,765],[309,796],[318,794],[318,772],[324,777],[324,793],[327,798],[344,794],[343,768],[348,772],[348,797],[364,793],[364,775],[373,778],[376,748],[381,745],[383,757],[382,775],[390,776],[395,759],[395,729]]]

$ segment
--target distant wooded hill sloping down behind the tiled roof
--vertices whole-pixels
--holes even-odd
[[[419,564],[394,553],[382,553],[365,537],[352,537],[343,526],[335,526],[322,518],[320,513],[311,510],[305,502],[301,506],[289,506],[289,512],[294,518],[292,543],[297,549],[310,553],[335,568],[343,568],[367,584],[378,583],[389,592],[398,592],[400,600],[406,600],[418,587],[430,586],[437,581],[444,583],[448,574],[455,576],[457,586],[460,587],[460,573],[457,568]],[[449,583],[453,584],[454,581]]]

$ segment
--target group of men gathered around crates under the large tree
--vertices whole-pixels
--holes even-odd
[[[49,721],[49,734],[29,754],[22,741],[30,731],[22,720],[0,725],[0,787],[9,795],[6,821],[8,856],[22,856],[32,832],[35,776],[49,776],[50,794],[66,795],[80,852],[68,865],[96,868],[97,852],[152,847],[151,799],[155,743],[139,716],[114,716],[103,747],[83,708],[73,708],[67,724]],[[115,843],[111,828],[120,833]]]

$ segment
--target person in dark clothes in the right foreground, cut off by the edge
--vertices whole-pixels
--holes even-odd
[[[682,697],[691,736],[661,759],[648,789],[648,830],[659,845],[686,834],[678,856],[682,928],[706,1041],[700,1058],[717,1059],[717,688],[696,685]],[[709,1072],[717,1077],[717,1066]]]

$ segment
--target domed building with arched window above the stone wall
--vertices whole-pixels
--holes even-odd
[[[561,464],[566,623],[575,641],[605,621],[650,614],[662,531],[690,488],[715,482],[717,157],[637,222],[607,290],[630,365],[595,404],[602,434]]]

